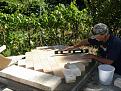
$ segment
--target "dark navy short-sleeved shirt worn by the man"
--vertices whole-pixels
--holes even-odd
[[[121,39],[110,35],[107,42],[99,42],[96,39],[88,39],[89,43],[98,47],[101,57],[113,60],[115,72],[121,75]]]

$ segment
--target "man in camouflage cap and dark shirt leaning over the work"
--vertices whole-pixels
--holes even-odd
[[[93,45],[98,47],[99,56],[87,54],[82,58],[94,59],[104,64],[111,64],[115,72],[121,75],[121,39],[109,33],[107,25],[96,24],[92,29],[93,36],[82,40],[79,44],[65,48],[64,50],[76,49],[80,46]]]

